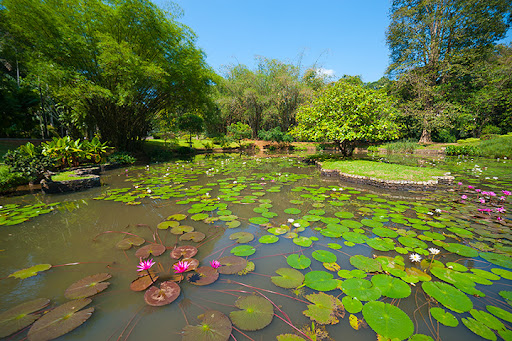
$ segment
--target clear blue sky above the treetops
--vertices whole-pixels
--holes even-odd
[[[167,0],[154,0],[162,8]],[[207,62],[255,66],[255,57],[302,67],[315,65],[335,78],[360,75],[365,82],[384,75],[389,64],[386,29],[389,0],[174,0],[178,21],[197,35]],[[509,39],[510,41],[510,39]],[[301,57],[302,56],[302,57]]]

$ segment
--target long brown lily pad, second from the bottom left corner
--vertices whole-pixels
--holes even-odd
[[[28,331],[30,341],[53,340],[67,334],[87,321],[94,308],[82,309],[92,300],[89,298],[66,302],[37,320]]]

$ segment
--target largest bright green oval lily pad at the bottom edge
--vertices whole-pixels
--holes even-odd
[[[414,324],[400,308],[384,302],[368,302],[363,307],[368,325],[383,337],[407,339],[414,332]]]

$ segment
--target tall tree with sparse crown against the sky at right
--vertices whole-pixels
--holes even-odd
[[[511,9],[510,0],[393,0],[388,72],[410,89],[405,111],[418,117],[421,142],[431,141],[433,123],[445,121],[436,118],[450,111],[440,87],[450,68],[486,56],[505,36]]]

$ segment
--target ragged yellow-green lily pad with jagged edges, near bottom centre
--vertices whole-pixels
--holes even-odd
[[[334,296],[324,294],[307,295],[306,299],[313,304],[308,304],[308,309],[302,313],[319,324],[336,324],[338,317],[343,317],[343,304]]]

